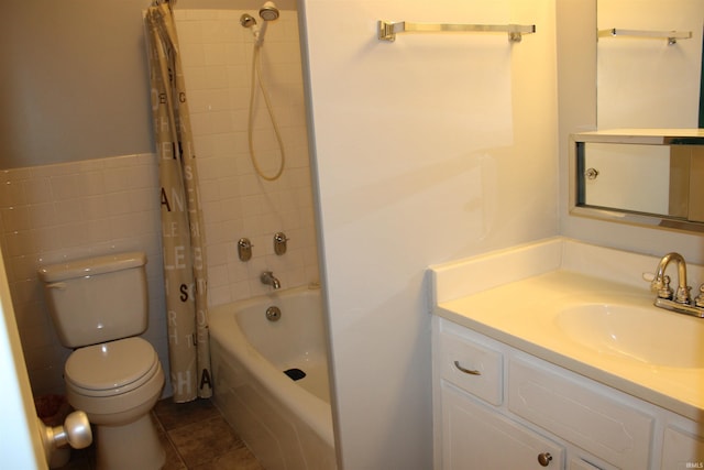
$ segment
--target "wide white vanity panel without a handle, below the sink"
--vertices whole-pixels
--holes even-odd
[[[648,468],[653,417],[579,376],[510,359],[508,408],[620,468]]]

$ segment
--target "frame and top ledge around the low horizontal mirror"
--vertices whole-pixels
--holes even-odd
[[[590,206],[579,206],[580,165],[578,159],[578,142],[600,143],[631,143],[669,145],[697,144],[704,145],[704,129],[616,129],[570,134],[570,206],[571,216],[588,217],[610,222],[628,223],[658,228],[664,230],[681,230],[689,232],[704,232],[704,222],[686,220],[680,217],[653,215],[624,209],[608,209]]]

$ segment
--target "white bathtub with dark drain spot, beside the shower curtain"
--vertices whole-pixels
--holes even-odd
[[[320,289],[277,291],[209,316],[215,404],[264,468],[336,469]]]

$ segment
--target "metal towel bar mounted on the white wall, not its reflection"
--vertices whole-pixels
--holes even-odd
[[[521,24],[447,24],[447,23],[409,23],[407,21],[378,22],[378,40],[395,41],[398,33],[508,33],[508,41],[520,42],[524,34],[536,32],[536,25]]]

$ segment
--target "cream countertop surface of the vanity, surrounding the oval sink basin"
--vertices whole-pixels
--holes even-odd
[[[648,307],[652,306],[653,294],[647,288],[556,270],[441,300],[433,313],[690,419],[703,420],[704,369],[654,365],[598,352],[565,338],[558,325],[556,305],[624,299],[630,305]],[[692,321],[692,328],[704,331],[704,319],[664,309],[658,311],[678,315],[682,321]],[[704,342],[704,336],[701,341]]]

